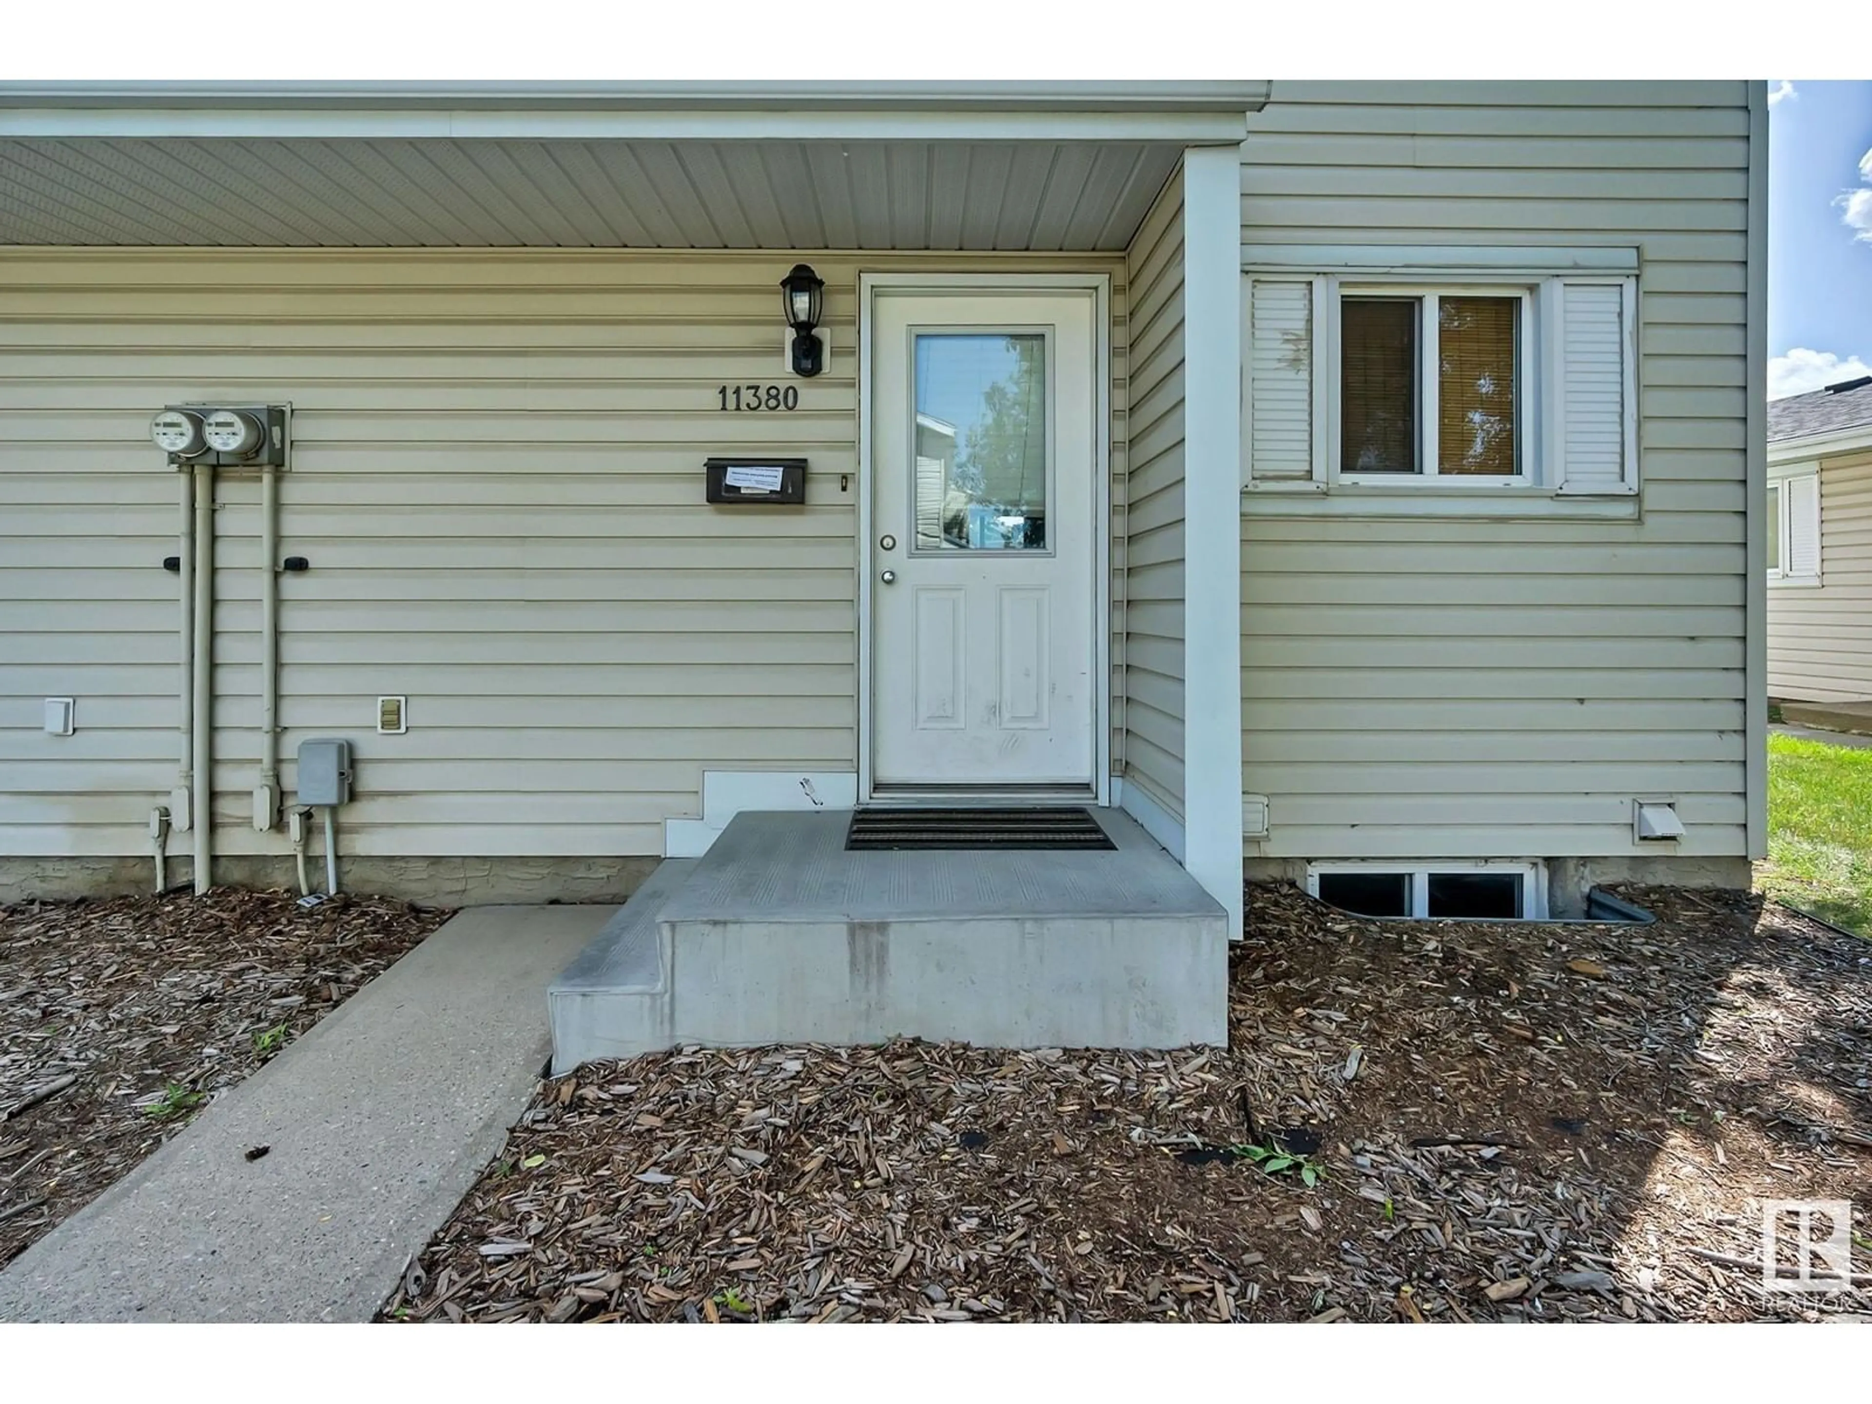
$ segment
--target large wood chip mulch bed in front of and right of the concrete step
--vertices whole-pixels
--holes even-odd
[[[1374,923],[1254,887],[1226,1052],[582,1067],[384,1316],[1866,1312],[1872,945],[1741,893],[1621,895],[1659,923]],[[1763,1288],[1782,1198],[1859,1202],[1857,1290]]]

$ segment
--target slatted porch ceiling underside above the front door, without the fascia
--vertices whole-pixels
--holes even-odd
[[[1123,249],[1168,142],[0,139],[0,243]]]

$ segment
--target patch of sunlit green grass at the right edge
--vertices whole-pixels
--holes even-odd
[[[1872,751],[1767,738],[1769,897],[1872,936]]]

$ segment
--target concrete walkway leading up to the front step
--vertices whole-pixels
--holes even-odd
[[[526,1106],[547,985],[614,910],[453,917],[15,1258],[0,1322],[371,1320]]]

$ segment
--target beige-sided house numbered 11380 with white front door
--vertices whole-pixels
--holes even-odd
[[[929,794],[1121,807],[1237,921],[1745,885],[1765,131],[1758,82],[9,84],[0,895],[290,882],[307,738],[348,884],[446,900]],[[189,404],[290,410],[285,466],[182,417],[178,472]]]

